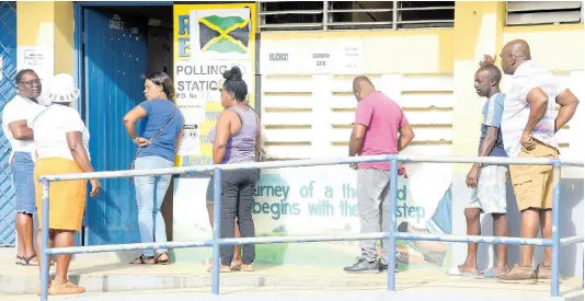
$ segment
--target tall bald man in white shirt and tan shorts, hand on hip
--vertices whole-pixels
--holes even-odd
[[[509,157],[558,158],[554,138],[575,113],[578,101],[559,80],[530,57],[525,40],[509,42],[502,49],[502,70],[512,76],[504,101],[502,132]],[[560,105],[559,114],[555,104]],[[511,165],[514,194],[521,212],[520,235],[552,238],[552,166]],[[544,263],[532,268],[534,246],[520,247],[520,264],[498,277],[502,282],[536,283],[550,280],[551,248],[544,248]]]

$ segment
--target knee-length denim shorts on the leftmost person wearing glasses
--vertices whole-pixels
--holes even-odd
[[[14,210],[16,213],[36,213],[35,206],[35,163],[28,152],[15,152],[10,162],[12,184],[16,196]]]

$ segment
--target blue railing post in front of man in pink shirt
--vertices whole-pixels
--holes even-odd
[[[390,239],[388,240],[388,290],[395,290],[397,286],[397,195],[398,195],[398,159],[390,160]]]

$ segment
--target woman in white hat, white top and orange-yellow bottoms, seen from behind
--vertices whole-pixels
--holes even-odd
[[[48,99],[51,104],[34,119],[28,120],[35,134],[37,162],[34,178],[47,174],[91,173],[88,144],[90,132],[79,113],[69,104],[79,97],[73,78],[57,74],[49,85]],[[91,180],[91,197],[100,194],[100,182]],[[43,224],[42,186],[35,181],[38,224]],[[51,182],[49,186],[49,247],[73,246],[74,232],[81,230],[85,209],[87,181]],[[39,229],[41,231],[41,229]],[[37,235],[41,247],[41,233]],[[84,288],[67,279],[71,255],[57,255],[57,271],[50,282],[49,294],[82,293]]]

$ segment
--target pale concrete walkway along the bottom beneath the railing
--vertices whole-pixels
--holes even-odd
[[[107,296],[107,300],[154,300],[156,296],[169,297],[173,300],[217,300],[210,294],[211,275],[200,264],[161,265],[129,265],[126,264],[133,254],[123,258],[115,254],[83,254],[78,255],[71,263],[70,279],[87,288],[83,296],[51,297],[51,300],[100,300]],[[348,275],[342,268],[314,266],[255,266],[253,273],[221,274],[221,300],[236,300],[236,296],[254,294],[273,300],[295,297],[302,300],[308,296],[325,293],[345,300],[346,297],[366,298],[364,300],[387,300],[391,296],[403,297],[402,300],[445,300],[473,299],[484,300],[551,300],[550,285],[538,283],[503,285],[489,279],[469,279],[448,277],[443,271],[406,270],[398,275],[398,292],[386,291],[387,274],[379,275]],[[51,268],[54,271],[55,268]],[[9,301],[5,294],[21,294],[18,300],[38,300],[33,293],[38,288],[38,267],[24,267],[14,264],[12,254],[0,250],[0,300]],[[179,289],[179,290],[177,290]],[[142,292],[137,291],[158,291]],[[165,291],[160,291],[165,290]],[[168,291],[172,290],[172,291]],[[288,292],[290,291],[290,293]],[[583,300],[581,278],[570,278],[561,283],[562,297]],[[114,292],[114,293],[104,293]],[[285,293],[286,292],[286,293]],[[318,293],[319,292],[319,293]],[[129,294],[128,294],[129,293]],[[300,293],[300,294],[299,294]],[[307,296],[302,296],[306,293]],[[359,297],[354,293],[364,296]],[[176,296],[175,296],[176,294]],[[366,296],[367,294],[367,296]],[[425,297],[426,296],[426,297]],[[16,296],[14,296],[16,297]],[[286,298],[285,298],[286,297]],[[231,298],[231,299],[230,299]],[[283,299],[284,298],[284,299]],[[438,299],[437,299],[438,298]],[[455,299],[454,299],[455,298]],[[513,298],[513,299],[506,299]],[[519,299],[517,299],[519,298]],[[528,299],[527,299],[528,298]],[[238,299],[238,300],[244,300]],[[14,299],[16,300],[16,299]],[[158,299],[160,300],[160,299]],[[268,299],[265,299],[268,300]],[[349,300],[349,299],[347,299]],[[395,299],[394,299],[395,300]]]

